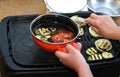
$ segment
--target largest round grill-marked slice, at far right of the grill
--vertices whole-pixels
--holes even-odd
[[[98,39],[98,40],[96,40],[95,41],[95,46],[101,52],[109,51],[109,50],[112,49],[112,44],[107,39]]]

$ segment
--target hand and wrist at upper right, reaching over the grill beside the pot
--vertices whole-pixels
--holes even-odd
[[[120,27],[116,25],[110,16],[91,14],[85,21],[99,35],[120,40]]]

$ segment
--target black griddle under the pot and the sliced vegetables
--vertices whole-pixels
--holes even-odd
[[[90,12],[69,13],[64,14],[68,17],[78,15],[83,18],[89,17]],[[100,14],[100,13],[97,13]],[[60,60],[54,53],[47,52],[38,47],[32,39],[30,33],[30,23],[36,18],[35,15],[22,15],[22,16],[9,16],[4,18],[0,24],[0,49],[1,57],[5,65],[9,67],[9,70],[65,70],[66,68],[61,64]],[[94,42],[100,38],[94,38],[90,36],[88,31],[88,25],[84,26],[84,35],[81,39],[77,39],[76,42],[81,42],[82,54],[85,59],[88,55],[85,51],[89,47],[94,47]],[[113,53],[114,58],[103,59],[98,61],[88,62],[91,68],[108,66],[119,63],[120,61],[120,41],[110,40],[113,48],[110,52]]]

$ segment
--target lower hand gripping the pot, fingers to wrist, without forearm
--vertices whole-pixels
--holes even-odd
[[[81,65],[81,62],[86,63],[86,61],[82,56],[82,54],[80,53],[80,50],[82,47],[81,44],[77,43],[77,44],[74,44],[74,46],[75,48],[72,45],[67,44],[66,49],[68,50],[68,53],[56,51],[55,54],[58,58],[60,58],[60,60],[64,65],[74,69],[75,71],[78,71],[78,68],[80,68],[79,66]]]

